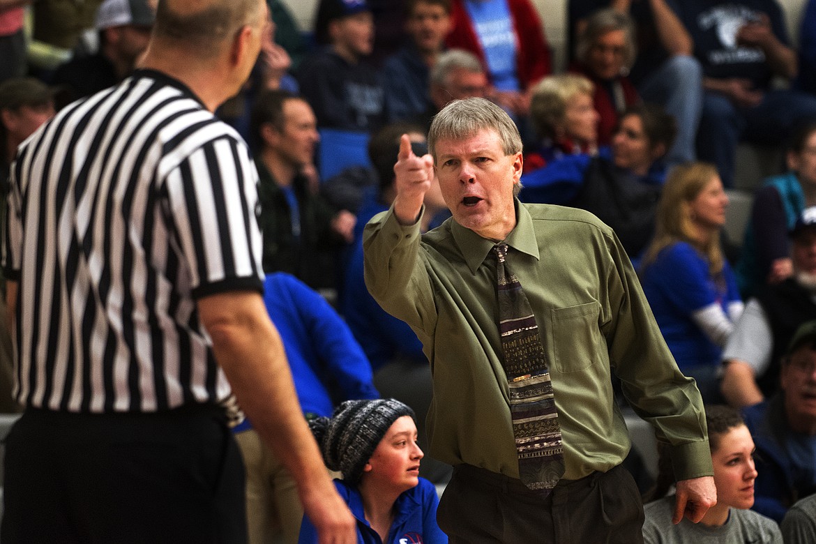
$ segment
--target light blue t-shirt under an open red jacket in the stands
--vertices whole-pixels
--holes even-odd
[[[499,91],[519,91],[516,33],[507,0],[466,0],[464,7],[485,51],[493,85]]]

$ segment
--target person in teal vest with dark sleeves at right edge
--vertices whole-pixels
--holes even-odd
[[[793,275],[787,235],[802,210],[816,206],[816,122],[793,135],[787,166],[787,174],[766,179],[754,197],[737,267],[746,297]]]

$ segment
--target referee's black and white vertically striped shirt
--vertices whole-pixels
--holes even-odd
[[[224,400],[195,301],[263,290],[257,183],[237,132],[152,70],[26,140],[3,252],[17,399],[83,413]]]

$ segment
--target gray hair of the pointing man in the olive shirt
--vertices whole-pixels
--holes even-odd
[[[436,158],[436,144],[441,139],[461,140],[479,130],[495,130],[505,155],[521,151],[521,135],[516,123],[496,104],[483,98],[454,100],[433,117],[428,131],[428,151]]]

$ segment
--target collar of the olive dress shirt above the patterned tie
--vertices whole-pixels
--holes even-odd
[[[538,260],[539,244],[535,239],[533,219],[530,217],[530,212],[524,206],[521,206],[521,202],[517,198],[514,200],[516,228],[512,229],[504,242],[514,250],[526,253]],[[456,223],[455,219],[451,219],[451,222],[453,224],[450,227],[450,232],[459,247],[459,252],[463,255],[465,262],[468,263],[470,272],[475,274],[496,243],[487,238],[482,238],[476,232]]]

